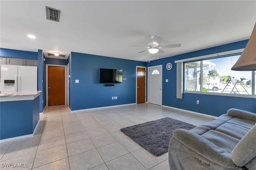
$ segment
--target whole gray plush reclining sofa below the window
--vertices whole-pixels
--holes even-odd
[[[229,109],[191,130],[174,130],[170,170],[256,170],[255,124],[255,113]]]

